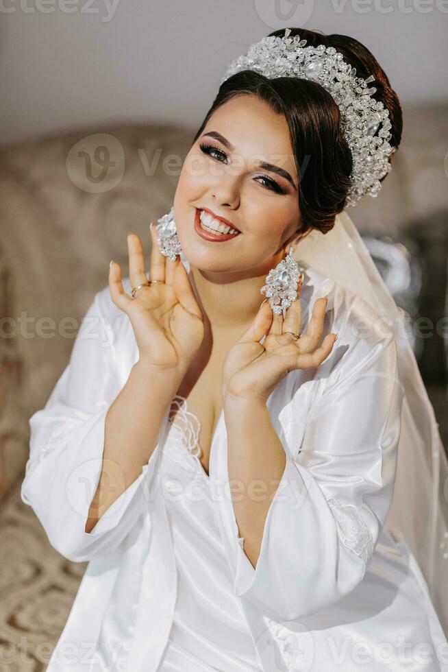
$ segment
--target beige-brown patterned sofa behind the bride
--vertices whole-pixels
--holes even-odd
[[[448,210],[447,106],[405,114],[381,196],[351,212],[360,230],[396,233]],[[0,150],[0,672],[45,669],[85,569],[49,545],[20,499],[27,420],[64,370],[110,259],[127,275],[127,232],[149,252],[148,224],[169,211],[193,135],[108,125]]]

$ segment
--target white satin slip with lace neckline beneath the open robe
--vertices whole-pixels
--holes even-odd
[[[160,672],[260,672],[221,538],[210,477],[199,459],[201,423],[176,395],[164,443],[164,493],[177,567],[173,625]]]

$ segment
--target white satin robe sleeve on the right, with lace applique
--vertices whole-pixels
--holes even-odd
[[[403,401],[395,339],[336,343],[347,359],[313,405],[300,450],[285,451],[256,568],[234,518],[235,593],[281,621],[356,587],[393,498]]]

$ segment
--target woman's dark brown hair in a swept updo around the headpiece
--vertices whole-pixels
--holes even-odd
[[[334,47],[346,62],[356,68],[356,77],[375,77],[376,93],[390,115],[390,144],[398,147],[403,119],[399,99],[388,77],[373,54],[358,40],[346,35],[325,35],[312,30],[291,28],[290,36],[306,39],[306,46]],[[284,28],[271,36],[284,36]],[[317,82],[299,77],[269,79],[251,70],[229,77],[221,86],[193,143],[197,141],[213,112],[237,95],[256,95],[278,114],[284,115],[299,176],[301,232],[310,228],[327,233],[336,215],[343,211],[350,187],[352,158],[340,129],[340,111],[332,96]],[[384,178],[382,178],[384,179]]]

